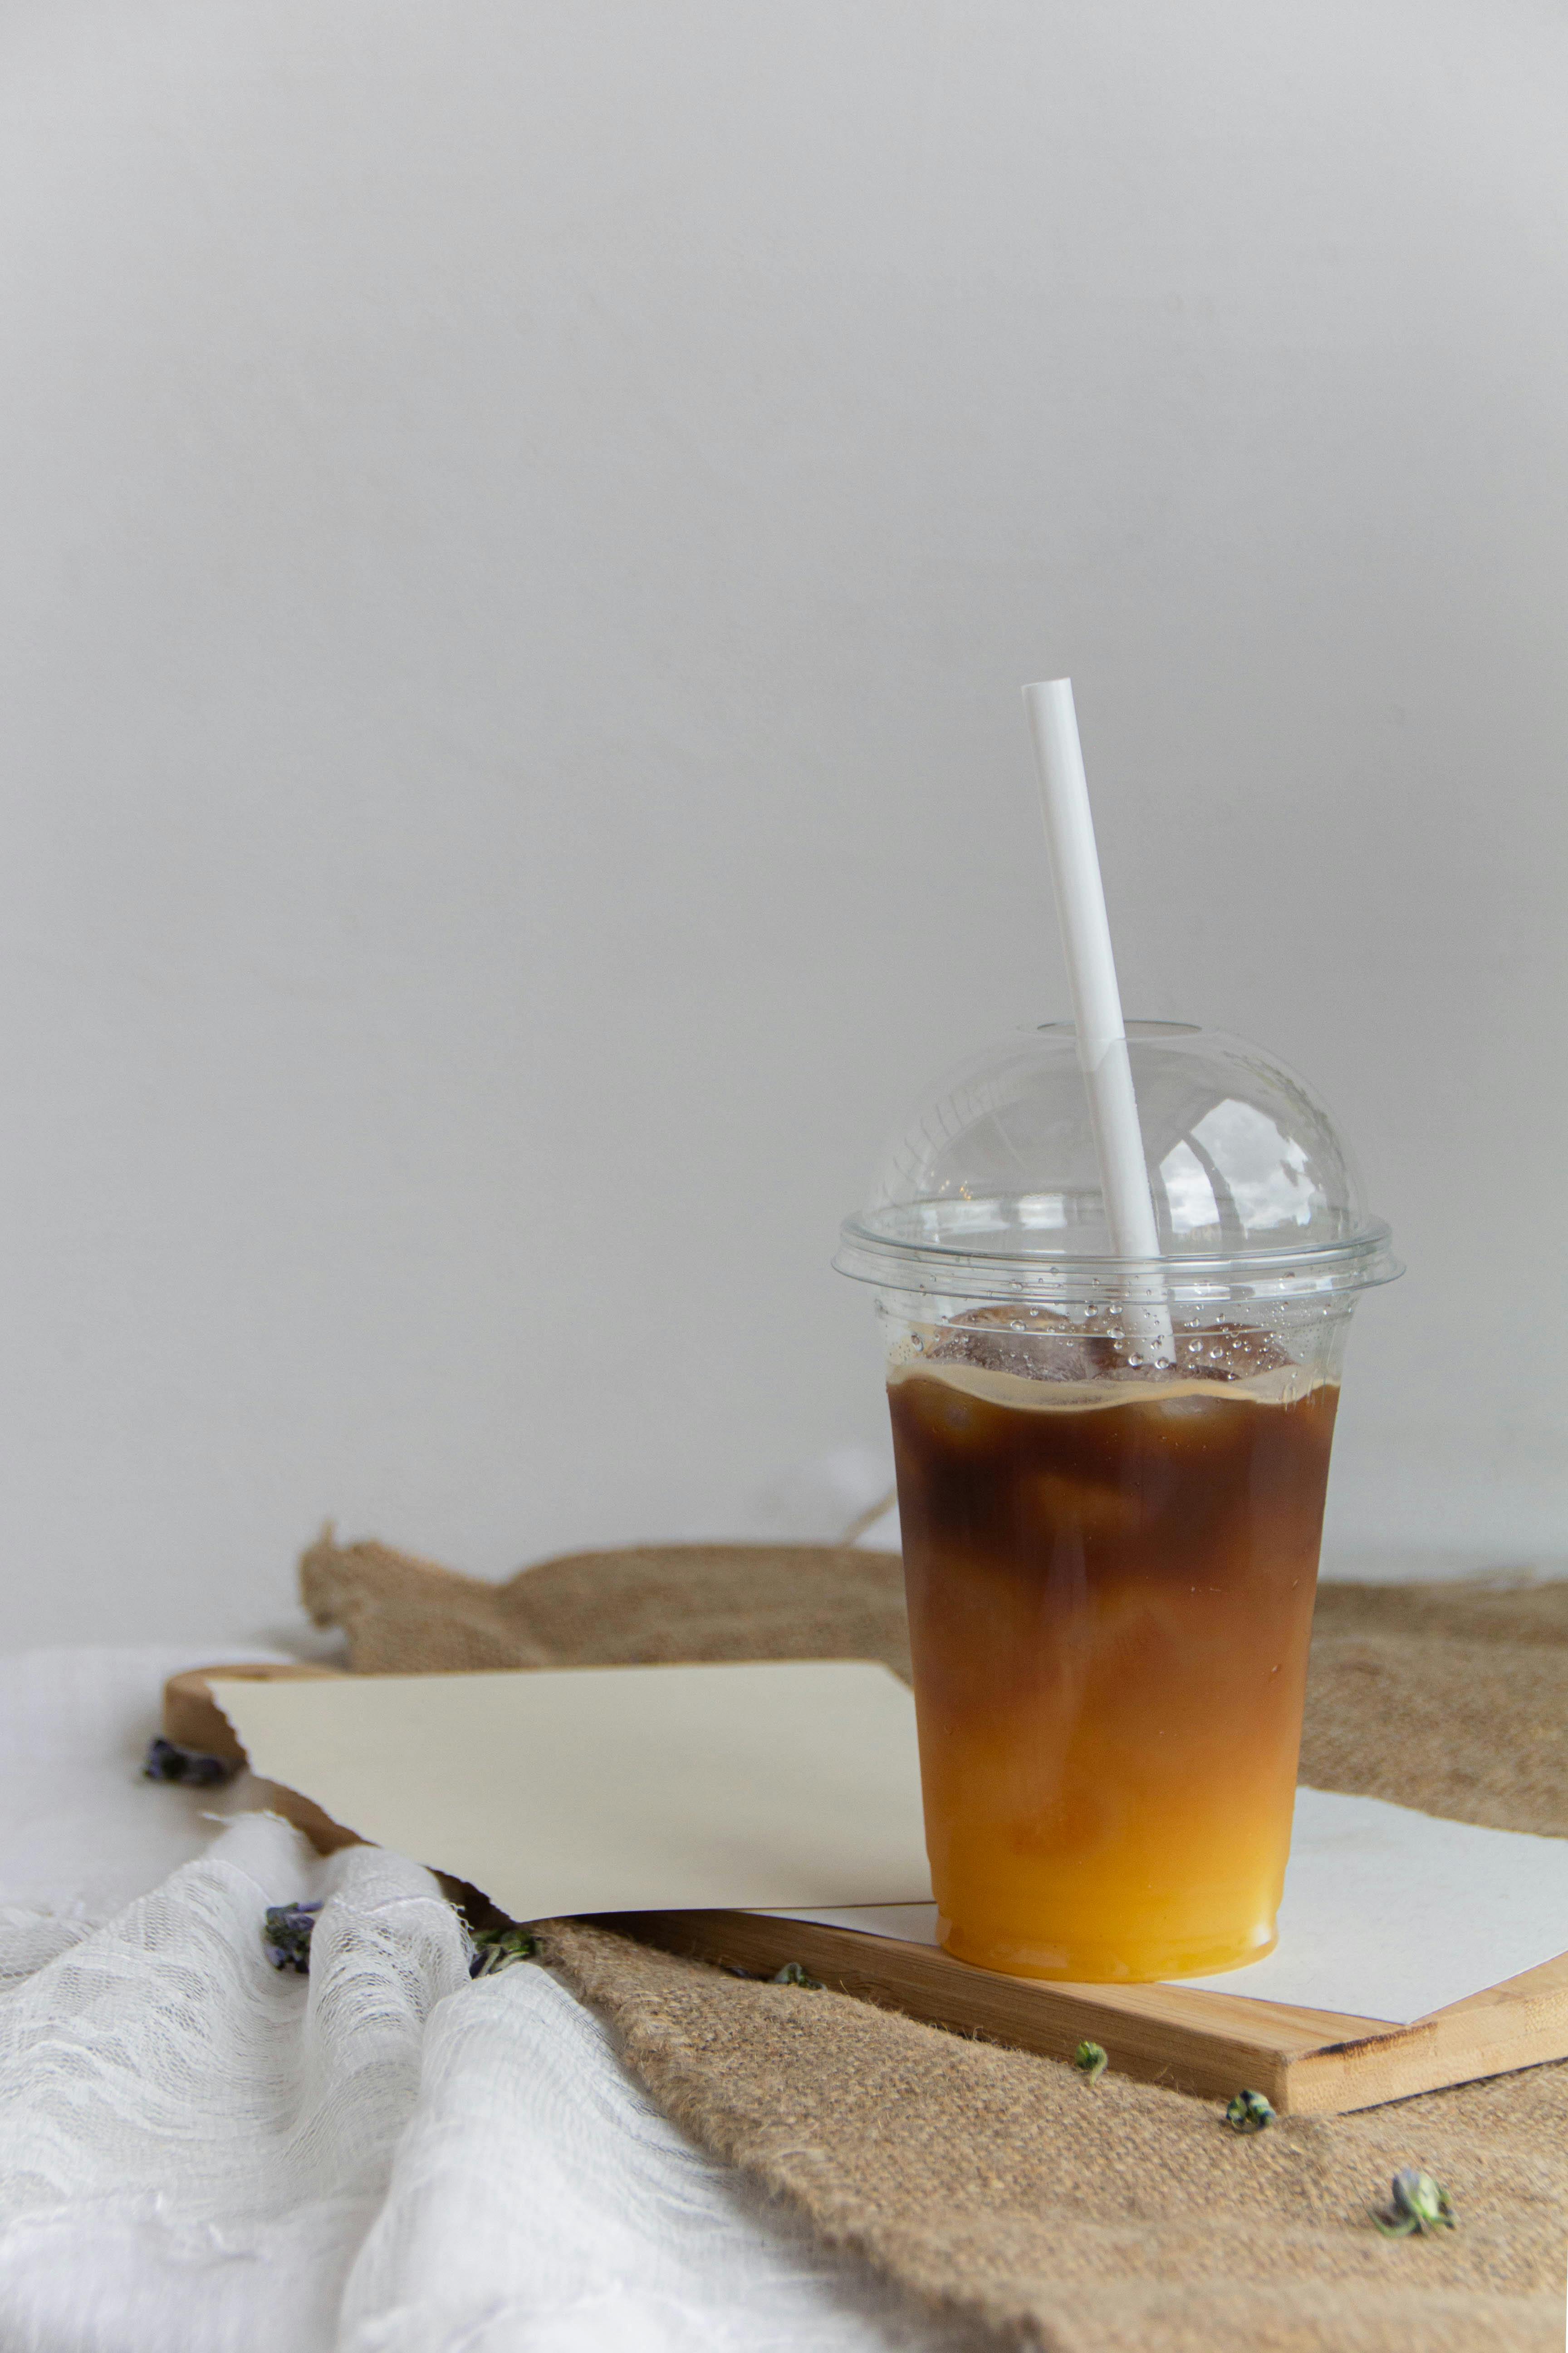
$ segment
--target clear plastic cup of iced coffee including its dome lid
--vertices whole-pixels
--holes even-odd
[[[835,1261],[886,1337],[943,1941],[1079,1981],[1274,1946],[1345,1332],[1399,1273],[1300,1080],[1128,1052],[1157,1261],[1110,1252],[1058,1024],[933,1089]]]

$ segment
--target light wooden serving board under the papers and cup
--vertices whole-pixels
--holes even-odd
[[[214,1666],[165,1687],[165,1737],[242,1762],[207,1675],[327,1675],[320,1666]],[[322,1849],[353,1845],[308,1798],[280,1809]],[[1342,2115],[1479,2075],[1568,2059],[1568,1953],[1413,2026],[1185,1986],[1067,1986],[1001,1977],[926,1944],[743,1911],[607,1913],[599,1927],[745,1974],[802,1962],[835,1993],[1018,2049],[1070,2059],[1103,2042],[1114,2071],[1204,2099],[1262,2092],[1281,2115]]]

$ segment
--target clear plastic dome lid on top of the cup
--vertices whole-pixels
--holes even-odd
[[[1159,1259],[1110,1240],[1070,1021],[947,1073],[844,1221],[839,1273],[950,1299],[1173,1304],[1309,1299],[1392,1282],[1389,1228],[1328,1111],[1258,1047],[1187,1021],[1128,1021]]]

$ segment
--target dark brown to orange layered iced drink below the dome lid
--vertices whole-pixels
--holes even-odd
[[[1258,1960],[1291,1849],[1342,1315],[891,1339],[943,1941],[1025,1977]]]

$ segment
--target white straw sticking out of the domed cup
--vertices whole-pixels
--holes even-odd
[[[1119,1259],[1157,1259],[1159,1231],[1150,1198],[1150,1174],[1143,1165],[1143,1129],[1133,1068],[1121,1024],[1117,958],[1105,915],[1105,885],[1088,814],[1088,779],[1079,744],[1072,680],[1046,678],[1023,689],[1039,767],[1039,800],[1046,814],[1056,913],[1067,951],[1067,986],[1077,1028],[1079,1068],[1088,1089],[1088,1120],[1100,1160],[1100,1191],[1110,1245]],[[1150,1282],[1150,1306],[1128,1306],[1128,1334],[1145,1341],[1157,1362],[1175,1355],[1171,1315],[1159,1282]]]

